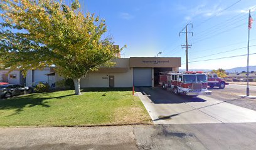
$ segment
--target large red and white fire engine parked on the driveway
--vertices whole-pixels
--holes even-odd
[[[187,71],[184,73],[166,73],[160,75],[159,84],[163,89],[171,89],[174,94],[198,96],[211,94],[207,89],[207,78],[203,72]]]

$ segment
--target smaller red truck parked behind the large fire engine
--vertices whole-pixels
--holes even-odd
[[[208,86],[211,88],[218,86],[220,89],[224,89],[228,83],[224,81],[223,78],[218,78],[217,74],[207,74],[208,77]]]

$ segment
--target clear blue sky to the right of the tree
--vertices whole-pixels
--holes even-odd
[[[250,53],[256,53],[256,1],[242,0],[223,11],[237,0],[87,0],[81,1],[83,12],[90,11],[104,18],[115,44],[127,48],[122,58],[131,56],[181,57],[185,63],[185,36],[179,31],[193,23],[194,36],[188,36],[190,61],[247,54],[247,11],[252,9],[255,20],[250,31]],[[225,46],[225,47],[224,47]],[[230,51],[228,53],[222,53]],[[221,54],[216,54],[221,53]],[[215,55],[212,55],[215,54]],[[208,56],[210,55],[210,56]],[[205,56],[203,58],[198,58]],[[198,59],[195,59],[198,58]],[[189,69],[218,69],[246,66],[246,56],[189,63]],[[256,55],[250,56],[250,66],[256,65]],[[181,68],[185,68],[185,64]]]

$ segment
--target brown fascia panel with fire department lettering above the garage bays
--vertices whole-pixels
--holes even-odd
[[[181,58],[130,58],[130,67],[178,68]]]

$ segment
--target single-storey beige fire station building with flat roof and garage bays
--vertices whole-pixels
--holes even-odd
[[[81,88],[156,86],[160,72],[179,71],[181,66],[181,58],[131,57],[114,61],[112,68],[88,73],[80,81]]]

